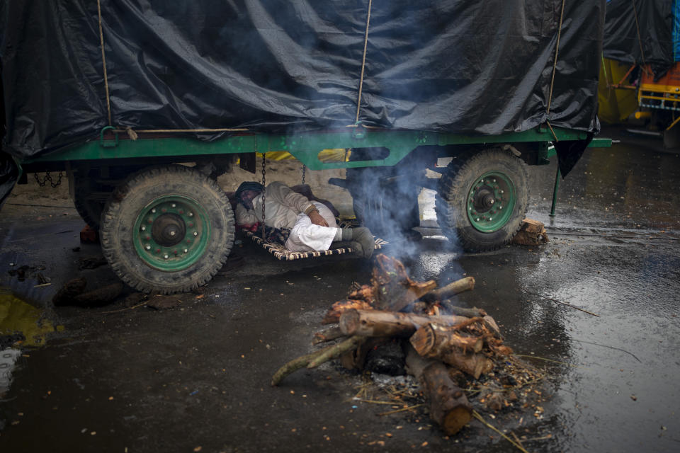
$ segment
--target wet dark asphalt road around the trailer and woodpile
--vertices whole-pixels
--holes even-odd
[[[680,156],[607,133],[622,142],[587,151],[562,180],[554,222],[555,162],[531,168],[528,217],[545,222],[550,243],[463,255],[426,229],[405,257],[418,279],[474,276],[458,304],[486,309],[506,344],[550,376],[542,414],[499,425],[529,452],[680,451]],[[60,208],[0,215],[0,285],[63,326],[11,367],[0,452],[518,451],[477,421],[446,438],[426,416],[379,416],[384,406],[351,399],[361,377],[336,365],[269,386],[312,350],[330,304],[368,283],[370,263],[280,263],[244,243],[241,268],[174,309],[56,309],[52,295],[75,275],[89,287],[115,280],[106,266],[78,269],[99,254],[79,244],[81,227]],[[45,265],[52,285],[19,282],[9,263]]]

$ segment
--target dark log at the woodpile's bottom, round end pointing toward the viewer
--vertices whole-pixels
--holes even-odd
[[[411,347],[406,356],[407,371],[421,382],[430,405],[430,418],[446,435],[454,435],[472,419],[467,396],[449,377],[441,362],[426,360]]]

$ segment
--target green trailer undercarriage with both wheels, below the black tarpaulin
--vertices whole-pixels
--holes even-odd
[[[550,125],[496,135],[378,130],[362,125],[297,134],[241,130],[212,141],[157,132],[137,134],[104,127],[98,139],[17,164],[26,172],[71,172],[71,189],[94,180],[103,184],[99,191],[86,188],[87,195],[80,195],[90,203],[85,208],[79,205],[77,190],[72,191],[79,213],[86,221],[89,213],[94,213],[90,219],[101,220],[102,251],[122,280],[140,291],[165,294],[208,282],[229,256],[235,231],[229,200],[215,180],[198,168],[169,164],[212,164],[221,156],[239,155],[245,158],[242,164],[249,160],[249,170],[254,171],[256,153],[288,151],[310,170],[346,168],[344,183],[353,203],[363,200],[354,210],[365,209],[361,218],[367,222],[382,217],[382,211],[376,216],[366,207],[365,200],[375,198],[375,193],[366,193],[365,187],[392,168],[404,173],[401,176],[406,176],[410,193],[395,195],[385,189],[380,194],[380,210],[382,200],[391,197],[398,205],[392,212],[410,212],[412,220],[414,188],[419,191],[434,183],[443,233],[468,246],[490,250],[510,241],[526,214],[526,164],[548,164],[555,155],[555,142],[589,138],[587,132]],[[589,147],[611,147],[611,139],[593,139]],[[347,159],[345,153],[339,161],[319,159],[325,149],[352,149],[356,154]],[[362,154],[361,150],[370,152]],[[424,176],[425,168],[437,167],[438,158],[459,154],[460,159],[446,168],[433,168],[441,179],[416,178],[419,171]],[[367,156],[379,159],[359,160]],[[227,159],[227,166],[231,162]],[[393,183],[393,175],[388,176]],[[559,179],[558,166],[550,215],[555,214]]]

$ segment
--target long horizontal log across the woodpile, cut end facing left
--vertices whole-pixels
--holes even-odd
[[[421,316],[397,311],[347,310],[340,316],[340,330],[346,336],[408,337],[427,323],[445,325],[467,321],[463,316]]]

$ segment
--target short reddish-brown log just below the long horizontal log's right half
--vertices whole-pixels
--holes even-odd
[[[463,352],[480,352],[485,343],[481,336],[468,336],[457,328],[433,323],[419,328],[410,341],[424,357],[439,357],[450,348],[458,348]]]

